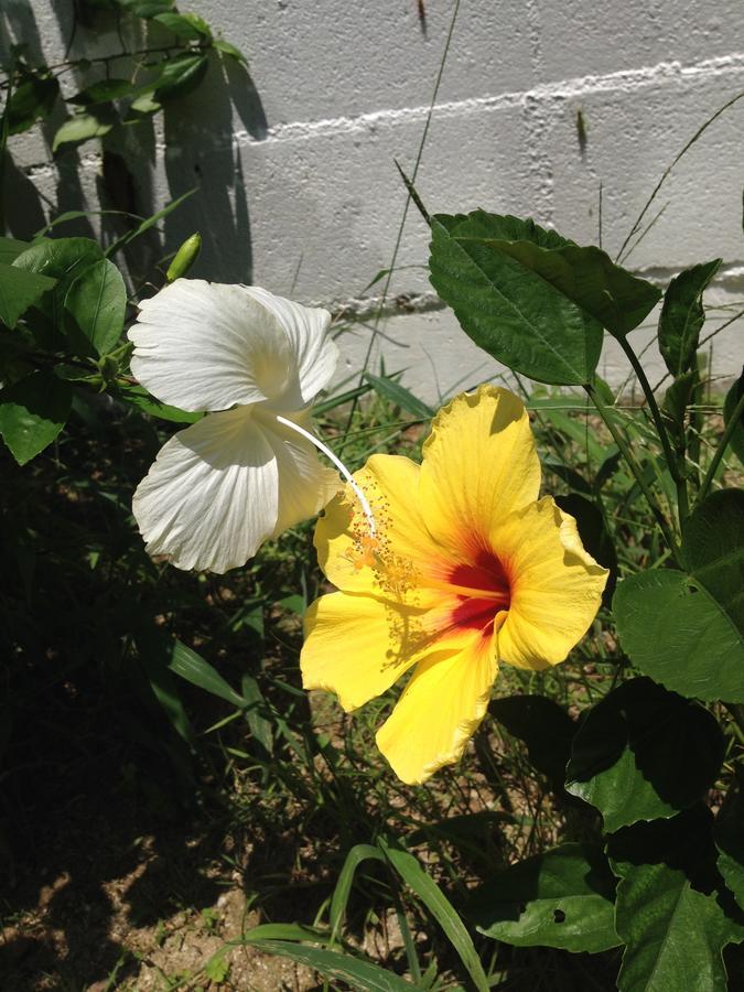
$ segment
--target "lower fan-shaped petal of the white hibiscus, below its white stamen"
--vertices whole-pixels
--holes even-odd
[[[309,442],[254,409],[206,417],[160,450],[132,503],[150,554],[226,572],[338,488]]]

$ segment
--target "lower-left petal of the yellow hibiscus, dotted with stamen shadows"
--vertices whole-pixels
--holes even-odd
[[[331,593],[305,614],[300,655],[305,689],[326,689],[355,710],[389,689],[425,646],[425,611],[374,596]]]

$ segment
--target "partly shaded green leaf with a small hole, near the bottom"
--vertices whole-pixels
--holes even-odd
[[[489,878],[468,915],[481,934],[516,947],[597,953],[622,942],[615,884],[599,844],[562,844]]]

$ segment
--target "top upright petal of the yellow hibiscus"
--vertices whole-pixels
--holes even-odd
[[[540,462],[529,418],[507,389],[455,397],[423,445],[420,508],[431,533],[453,549],[477,544],[494,519],[537,499]]]

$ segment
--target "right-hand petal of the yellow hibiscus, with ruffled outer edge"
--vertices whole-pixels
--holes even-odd
[[[499,658],[531,669],[563,661],[596,616],[607,570],[551,496],[496,522],[490,540],[510,583]]]

